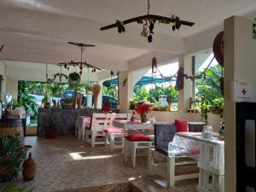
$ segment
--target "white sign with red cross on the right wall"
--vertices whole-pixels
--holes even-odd
[[[234,102],[252,102],[253,84],[244,82],[233,82],[233,101]]]

